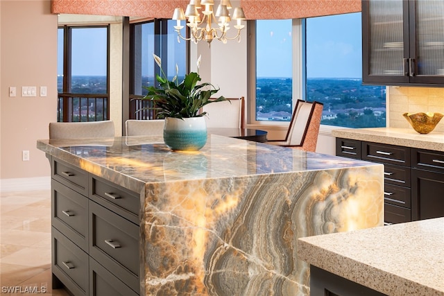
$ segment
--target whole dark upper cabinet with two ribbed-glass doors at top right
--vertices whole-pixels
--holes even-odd
[[[444,85],[444,1],[363,0],[362,80]]]

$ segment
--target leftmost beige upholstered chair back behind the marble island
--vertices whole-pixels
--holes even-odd
[[[114,137],[113,121],[51,122],[49,139]]]

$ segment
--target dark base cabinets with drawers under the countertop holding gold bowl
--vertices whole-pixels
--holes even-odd
[[[386,225],[444,216],[444,153],[336,138],[336,155],[384,164]]]

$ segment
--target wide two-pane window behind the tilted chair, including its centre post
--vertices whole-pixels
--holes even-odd
[[[290,121],[304,98],[324,103],[325,125],[386,125],[385,87],[362,85],[360,12],[258,20],[255,31],[256,123]]]

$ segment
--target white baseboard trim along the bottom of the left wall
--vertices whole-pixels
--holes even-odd
[[[31,191],[51,189],[51,177],[1,179],[0,191]]]

